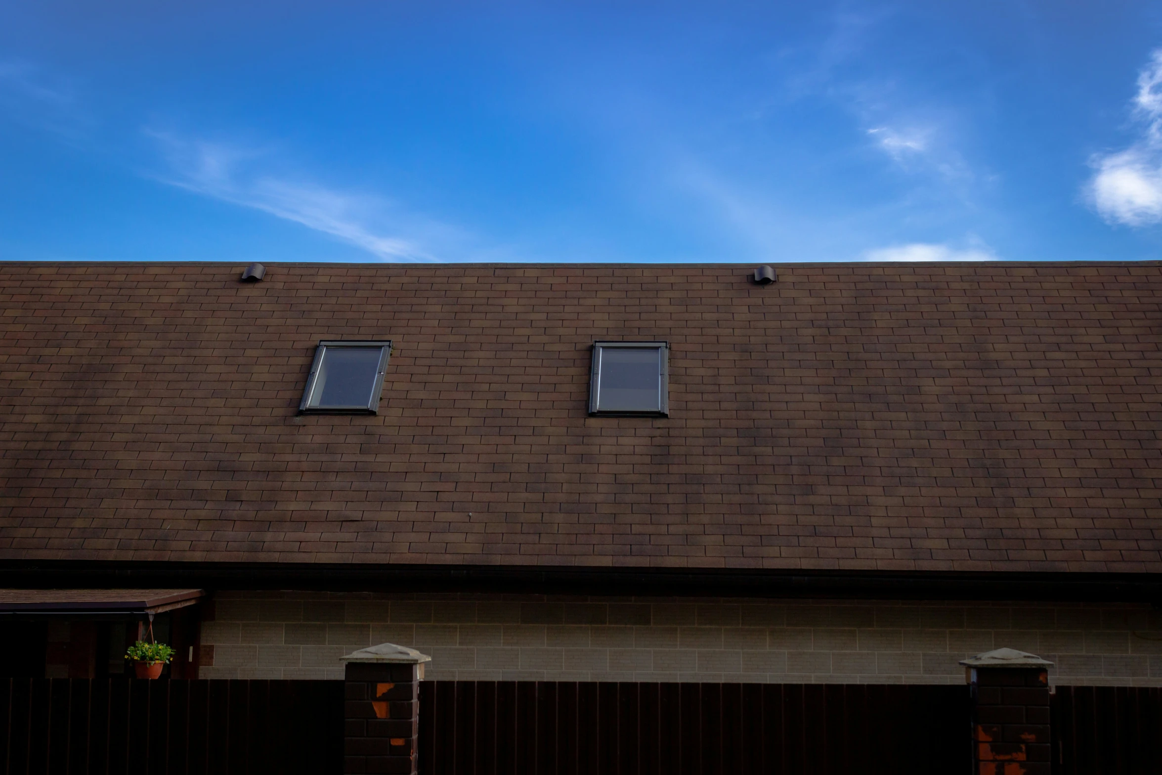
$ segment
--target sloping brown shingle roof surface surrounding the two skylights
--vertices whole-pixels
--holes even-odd
[[[1162,571],[1162,264],[748,268],[3,264],[0,557]],[[638,338],[672,416],[588,417]]]

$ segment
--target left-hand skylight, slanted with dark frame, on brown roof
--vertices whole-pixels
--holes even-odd
[[[390,352],[390,342],[320,342],[299,411],[374,415]]]

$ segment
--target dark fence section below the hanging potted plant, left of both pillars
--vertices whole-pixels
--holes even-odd
[[[342,772],[342,681],[0,679],[3,775]]]

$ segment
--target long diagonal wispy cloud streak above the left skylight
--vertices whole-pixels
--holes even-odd
[[[299,223],[381,260],[438,260],[418,241],[383,234],[382,225],[373,225],[381,223],[383,214],[392,209],[381,198],[256,172],[257,163],[266,156],[263,151],[172,132],[146,130],[146,134],[158,143],[166,160],[166,171],[155,175],[163,182]],[[430,222],[425,225],[429,230],[433,228]]]

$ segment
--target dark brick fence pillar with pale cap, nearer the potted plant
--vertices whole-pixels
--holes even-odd
[[[380,644],[346,662],[344,765],[349,775],[415,775],[419,735],[419,681],[430,656]]]

